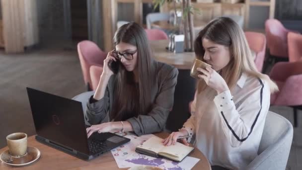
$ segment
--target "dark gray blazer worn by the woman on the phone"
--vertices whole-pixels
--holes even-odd
[[[173,66],[154,62],[156,65],[156,79],[152,89],[152,108],[149,112],[139,113],[138,117],[127,119],[137,135],[160,132],[165,128],[169,112],[173,107],[174,90],[177,83],[178,70]],[[96,102],[87,102],[85,119],[91,124],[100,124],[110,121],[110,112],[114,100],[115,75],[109,79],[104,97]]]

